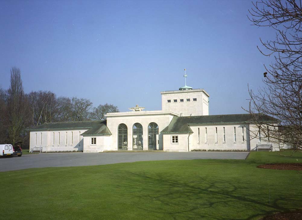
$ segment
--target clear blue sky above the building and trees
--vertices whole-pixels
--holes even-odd
[[[25,92],[161,109],[161,91],[184,85],[210,94],[210,114],[244,113],[247,84],[262,85],[251,1],[1,1],[0,85],[21,69]]]

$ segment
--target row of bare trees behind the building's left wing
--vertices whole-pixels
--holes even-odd
[[[0,85],[0,144],[23,142],[29,145],[26,129],[45,122],[102,120],[108,112],[119,112],[111,104],[92,107],[86,98],[56,97],[50,91],[24,93],[21,71],[11,68],[8,90]]]

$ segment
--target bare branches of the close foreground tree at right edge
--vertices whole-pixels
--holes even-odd
[[[301,1],[261,0],[248,16],[253,25],[273,28],[276,37],[262,40],[259,51],[274,56],[265,65],[264,88],[249,90],[249,112],[266,138],[302,146],[302,7]],[[258,113],[274,116],[280,123],[267,123]]]

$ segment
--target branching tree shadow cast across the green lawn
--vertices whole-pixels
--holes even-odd
[[[180,179],[165,174],[127,172],[115,176],[135,208],[173,219],[258,219],[274,212],[287,212],[301,204],[298,196],[282,195],[248,181],[225,181],[215,177]],[[192,181],[194,179],[194,181]],[[286,207],[290,202],[291,206]],[[296,203],[297,202],[297,203]],[[150,218],[153,218],[150,217]]]

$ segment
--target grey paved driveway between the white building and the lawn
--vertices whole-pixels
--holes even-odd
[[[0,172],[38,167],[89,166],[150,160],[246,159],[248,152],[42,153],[0,158]]]

